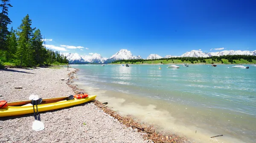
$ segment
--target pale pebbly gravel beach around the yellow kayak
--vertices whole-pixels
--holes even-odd
[[[28,100],[29,95],[53,98],[74,95],[67,85],[68,73],[75,69],[36,68],[0,70],[0,100]],[[62,80],[61,80],[62,79]],[[15,87],[22,87],[16,89]],[[1,143],[148,143],[93,103],[42,112],[45,129],[32,130],[33,114],[0,118]]]

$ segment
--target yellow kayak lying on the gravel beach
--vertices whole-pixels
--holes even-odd
[[[91,95],[81,99],[74,98],[72,100],[67,100],[68,97],[43,99],[42,103],[38,105],[38,112],[70,107],[70,106],[82,104],[88,101],[92,101],[95,98],[96,98],[96,95]],[[8,105],[7,107],[0,109],[0,117],[34,113],[31,100],[10,102],[7,105]]]

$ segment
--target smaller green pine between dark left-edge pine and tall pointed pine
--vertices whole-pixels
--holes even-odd
[[[6,50],[5,50],[5,57],[6,57],[6,62],[10,62],[14,60],[15,58],[15,53],[17,50],[17,38],[15,31],[13,28],[11,28],[10,33],[7,35],[6,39]]]

